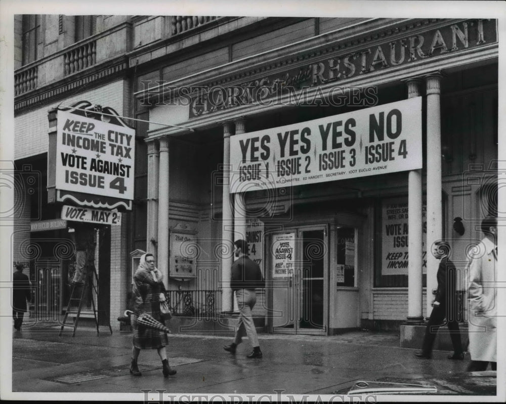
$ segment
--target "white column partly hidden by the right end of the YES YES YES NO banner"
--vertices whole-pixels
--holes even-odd
[[[408,98],[420,95],[421,80],[407,80]],[[423,204],[421,193],[421,169],[411,170],[408,174],[408,321],[419,322],[424,319],[422,312],[423,282],[423,222],[421,207]]]

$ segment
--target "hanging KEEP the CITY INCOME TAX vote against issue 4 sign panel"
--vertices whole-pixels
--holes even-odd
[[[56,188],[134,199],[135,130],[58,111]]]

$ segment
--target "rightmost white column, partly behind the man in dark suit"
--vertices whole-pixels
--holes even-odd
[[[426,77],[427,83],[427,317],[432,311],[432,290],[437,288],[438,259],[431,253],[442,236],[441,181],[441,82],[442,75]]]

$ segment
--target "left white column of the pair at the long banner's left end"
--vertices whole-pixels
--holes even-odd
[[[223,249],[222,262],[222,311],[232,310],[232,289],[230,289],[230,275],[233,262],[234,218],[230,202],[230,134],[232,123],[223,123],[223,215],[222,215],[222,243],[229,246]]]

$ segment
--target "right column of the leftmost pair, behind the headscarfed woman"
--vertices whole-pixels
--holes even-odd
[[[158,257],[157,267],[168,287],[168,138],[160,138],[160,169],[158,182]]]

